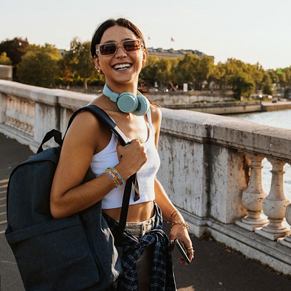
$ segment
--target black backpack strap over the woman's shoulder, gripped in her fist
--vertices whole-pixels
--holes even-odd
[[[122,146],[126,146],[126,145],[130,144],[128,137],[115,124],[115,122],[109,117],[109,115],[105,111],[103,111],[101,108],[99,108],[95,105],[88,105],[88,106],[82,107],[79,110],[77,110],[70,118],[69,123],[68,123],[68,128],[71,125],[74,117],[82,111],[90,111],[97,118],[100,118],[111,129],[111,131],[116,135],[116,137],[118,138],[118,140],[120,141],[120,144]],[[119,225],[118,225],[118,230],[117,230],[117,234],[115,237],[115,245],[116,246],[122,245],[123,232],[124,232],[124,229],[126,226],[127,215],[128,215],[128,210],[129,210],[129,199],[130,199],[132,184],[134,184],[134,186],[135,186],[134,187],[135,193],[138,192],[138,185],[137,185],[136,181],[137,181],[136,173],[133,174],[131,177],[129,177],[126,181],[123,199],[122,199],[122,208],[121,208],[121,212],[120,212]]]

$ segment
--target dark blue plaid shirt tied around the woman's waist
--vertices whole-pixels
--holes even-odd
[[[150,275],[151,291],[176,291],[173,272],[172,256],[168,236],[162,230],[162,211],[155,203],[156,218],[154,227],[144,236],[137,239],[127,229],[123,234],[121,264],[123,273],[108,289],[110,291],[138,291],[136,262],[144,249],[151,244],[155,245]],[[118,223],[106,214],[103,214],[113,236],[116,235]]]

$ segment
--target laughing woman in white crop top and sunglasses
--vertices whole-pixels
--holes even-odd
[[[122,255],[124,274],[112,288],[133,290],[138,282],[139,290],[154,286],[159,286],[159,290],[176,290],[169,239],[161,229],[161,210],[172,224],[171,242],[176,238],[184,242],[190,260],[194,251],[188,225],[155,177],[160,165],[157,148],[161,111],[142,96],[138,109],[133,112],[124,109],[127,103],[119,104],[114,99],[124,92],[140,95],[138,78],[147,56],[144,37],[129,20],[109,19],[95,31],[91,53],[97,70],[105,76],[106,85],[103,94],[90,104],[108,113],[131,143],[118,145],[116,137],[93,114],[79,113],[62,147],[51,189],[51,213],[55,218],[69,216],[102,199],[104,218],[114,234],[120,216],[123,182],[137,173],[140,196],[133,197],[132,193],[129,202]],[[97,178],[81,185],[90,165]],[[184,259],[179,261],[186,264]],[[157,276],[155,272],[161,274]]]

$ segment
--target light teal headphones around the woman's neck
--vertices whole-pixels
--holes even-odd
[[[103,94],[115,102],[121,112],[132,112],[135,115],[142,116],[149,110],[149,101],[139,91],[137,91],[137,95],[130,92],[124,92],[118,95],[111,91],[107,84],[105,84]]]

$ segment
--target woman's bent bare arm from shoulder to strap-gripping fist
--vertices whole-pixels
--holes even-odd
[[[65,136],[50,192],[50,210],[54,218],[89,208],[115,187],[113,180],[105,173],[81,184],[95,150],[102,149],[102,145],[104,147],[104,133],[106,137],[106,130],[109,130],[105,127],[88,112],[79,113],[73,120]],[[122,155],[122,159],[114,168],[124,181],[146,161],[144,147],[138,141],[124,147],[117,146],[117,153],[118,157]]]

